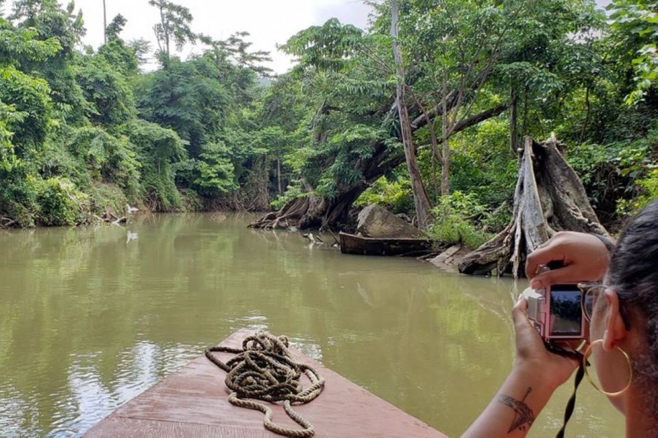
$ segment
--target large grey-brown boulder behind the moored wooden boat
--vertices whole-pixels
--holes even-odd
[[[365,237],[425,237],[422,231],[376,204],[358,214],[356,232]]]

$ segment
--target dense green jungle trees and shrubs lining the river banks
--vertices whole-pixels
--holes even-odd
[[[149,73],[121,16],[97,51],[73,3],[19,0],[0,18],[1,225],[128,203],[295,205],[302,227],[341,227],[371,202],[413,215],[400,81],[441,240],[476,246],[507,222],[524,136],[564,142],[610,227],[658,196],[655,1],[400,0],[402,76],[380,1],[365,31],[331,19],[291,36],[280,49],[297,63],[273,79],[247,34],[213,40],[184,6],[149,3],[162,18]],[[191,42],[202,54],[175,56]]]

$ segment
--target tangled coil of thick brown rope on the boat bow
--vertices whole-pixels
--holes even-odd
[[[212,352],[229,352],[236,355],[223,363]],[[315,435],[315,428],[302,415],[295,412],[292,404],[305,404],[320,395],[324,388],[324,378],[306,365],[294,361],[288,351],[288,338],[274,336],[264,331],[248,336],[242,348],[216,346],[206,349],[206,357],[226,371],[224,383],[232,391],[228,401],[234,406],[254,409],[265,414],[263,425],[278,435],[292,438],[306,438]],[[311,385],[304,389],[300,378],[306,374]],[[284,402],[286,413],[303,430],[284,428],[272,422],[273,412],[264,402]]]

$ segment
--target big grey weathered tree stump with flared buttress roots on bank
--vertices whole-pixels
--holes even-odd
[[[512,219],[505,229],[459,264],[463,274],[524,274],[526,256],[558,231],[607,235],[585,188],[563,157],[555,137],[537,143],[526,137],[514,192]]]

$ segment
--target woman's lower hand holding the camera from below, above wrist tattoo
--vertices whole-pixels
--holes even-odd
[[[528,320],[527,309],[526,298],[520,296],[512,310],[516,333],[514,368],[532,380],[539,378],[541,385],[552,392],[568,380],[578,361],[546,350],[544,340]]]

